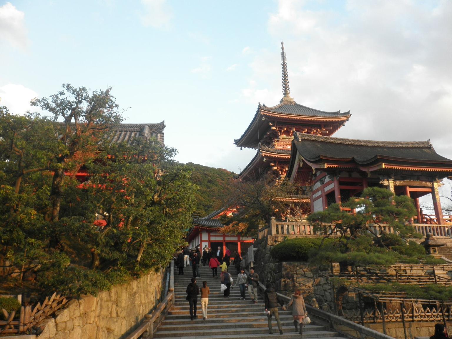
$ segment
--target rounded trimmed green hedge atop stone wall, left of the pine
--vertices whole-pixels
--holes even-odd
[[[334,239],[325,239],[323,245],[328,245]],[[280,261],[298,260],[307,261],[309,253],[313,249],[318,249],[322,243],[322,238],[292,238],[287,239],[273,246],[270,255],[273,259]]]

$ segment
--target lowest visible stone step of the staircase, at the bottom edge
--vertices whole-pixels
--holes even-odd
[[[191,320],[189,320],[191,321]],[[193,320],[195,321],[195,320]],[[276,326],[276,323],[275,323]],[[188,332],[188,333],[187,333]],[[207,333],[206,333],[207,332]],[[300,338],[300,334],[295,333],[295,329],[293,326],[282,326],[282,332],[286,333],[287,338],[298,337]],[[273,327],[273,333],[279,334],[278,327]],[[193,332],[190,331],[157,331],[154,334],[154,338],[194,338],[194,339],[202,339],[202,338],[215,338],[215,339],[230,339],[232,337],[236,338],[247,338],[250,335],[253,335],[251,338],[264,338],[265,334],[268,334],[268,328],[247,328],[240,327],[235,329],[218,329],[215,331],[207,330],[207,331],[199,331],[193,336]],[[270,334],[269,334],[270,335]],[[274,335],[274,334],[273,334]],[[333,331],[321,331],[321,330],[303,330],[303,338],[330,338],[337,336],[337,332]],[[278,338],[285,338],[282,335],[278,335]]]

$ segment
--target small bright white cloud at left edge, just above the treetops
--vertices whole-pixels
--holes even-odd
[[[30,106],[31,99],[38,96],[38,93],[23,85],[8,84],[0,86],[0,105],[6,106],[10,113],[24,114],[27,110],[33,110]]]

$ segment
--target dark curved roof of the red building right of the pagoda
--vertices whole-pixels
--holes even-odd
[[[292,159],[296,158],[298,152],[303,160],[311,165],[340,164],[363,167],[380,164],[379,168],[405,165],[434,168],[438,172],[444,169],[452,170],[452,160],[438,155],[429,140],[373,141],[295,133],[292,145]],[[291,161],[289,172],[292,171],[294,161]]]

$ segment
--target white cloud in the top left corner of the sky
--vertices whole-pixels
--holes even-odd
[[[6,40],[15,47],[26,48],[28,44],[25,14],[10,2],[0,7],[0,42]]]

